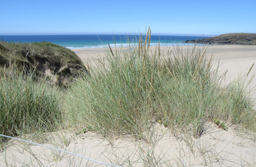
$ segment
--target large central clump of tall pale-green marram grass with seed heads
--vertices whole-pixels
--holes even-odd
[[[255,110],[243,86],[221,86],[203,51],[149,50],[150,35],[137,47],[106,50],[107,60],[91,68],[66,94],[68,124],[90,127],[106,137],[130,134],[144,138],[149,124],[185,128],[195,137],[215,119],[243,127],[255,126]],[[254,116],[254,117],[252,117]]]

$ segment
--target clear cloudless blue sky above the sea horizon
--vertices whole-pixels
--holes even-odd
[[[255,0],[0,0],[0,34],[256,33]]]

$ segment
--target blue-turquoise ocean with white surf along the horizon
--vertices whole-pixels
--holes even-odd
[[[140,35],[0,35],[1,41],[6,42],[52,42],[69,49],[100,48],[110,45],[112,47],[126,47],[128,42],[136,44]],[[145,38],[145,36],[144,36]],[[151,46],[160,45],[194,45],[183,42],[196,40],[206,36],[181,36],[181,35],[151,35]]]

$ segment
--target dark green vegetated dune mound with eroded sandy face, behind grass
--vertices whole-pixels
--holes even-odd
[[[81,72],[87,72],[73,51],[50,42],[0,42],[0,60],[1,67],[12,64],[20,72],[33,70],[38,79],[64,87]]]

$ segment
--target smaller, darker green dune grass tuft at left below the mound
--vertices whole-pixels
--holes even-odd
[[[13,65],[1,70],[0,134],[15,136],[47,132],[62,121],[57,88],[35,76],[17,72]]]

